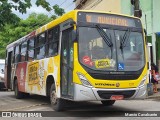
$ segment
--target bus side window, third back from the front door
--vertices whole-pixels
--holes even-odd
[[[29,45],[28,45],[28,61],[34,59],[34,45],[35,45],[35,39],[31,38],[29,40]]]

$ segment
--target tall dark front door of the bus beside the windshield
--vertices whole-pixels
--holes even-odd
[[[61,26],[61,96],[73,98],[73,27],[67,23]]]

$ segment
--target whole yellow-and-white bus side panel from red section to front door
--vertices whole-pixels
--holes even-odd
[[[59,75],[59,56],[36,60],[28,63],[25,81],[25,91],[27,93],[46,96],[47,76],[53,76],[49,79],[50,83],[55,82],[57,97],[60,97],[60,75]]]

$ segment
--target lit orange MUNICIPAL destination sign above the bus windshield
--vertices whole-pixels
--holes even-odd
[[[113,14],[79,13],[79,20],[87,23],[108,24],[126,27],[140,27],[139,19]]]

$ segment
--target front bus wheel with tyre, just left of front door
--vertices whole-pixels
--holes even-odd
[[[51,107],[55,111],[62,111],[64,108],[65,100],[57,98],[55,84],[53,83],[50,89],[50,102]]]

